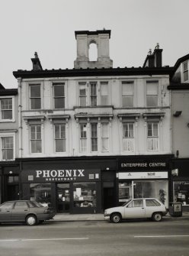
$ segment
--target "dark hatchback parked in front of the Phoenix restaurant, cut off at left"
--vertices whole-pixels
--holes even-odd
[[[53,219],[54,215],[53,209],[30,200],[8,201],[0,205],[0,223],[25,222],[27,225],[36,225]]]

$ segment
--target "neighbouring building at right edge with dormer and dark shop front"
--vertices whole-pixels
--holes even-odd
[[[189,54],[178,59],[171,73],[172,201],[189,209]]]

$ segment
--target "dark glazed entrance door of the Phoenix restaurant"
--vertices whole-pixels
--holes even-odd
[[[70,209],[70,193],[69,183],[56,184],[56,203],[57,212],[69,212]]]

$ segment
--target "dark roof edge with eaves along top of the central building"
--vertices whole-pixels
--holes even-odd
[[[66,70],[18,70],[14,71],[15,78],[45,78],[45,77],[75,77],[75,76],[139,76],[139,75],[170,75],[173,67],[117,67],[94,69],[66,69]]]

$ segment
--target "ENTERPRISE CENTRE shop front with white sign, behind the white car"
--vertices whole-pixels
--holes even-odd
[[[169,163],[170,158],[165,156],[120,158],[119,205],[133,198],[155,197],[168,208]]]

